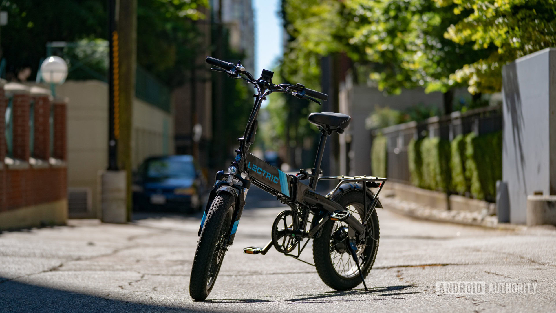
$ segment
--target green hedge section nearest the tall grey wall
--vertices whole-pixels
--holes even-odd
[[[502,132],[465,137],[465,177],[476,199],[494,200],[496,181],[502,179]]]

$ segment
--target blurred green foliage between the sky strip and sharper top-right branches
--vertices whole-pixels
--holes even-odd
[[[363,68],[379,90],[399,94],[403,88],[421,86],[426,92],[441,91],[449,113],[453,88],[466,84],[450,79],[450,74],[488,52],[444,37],[450,25],[471,13],[455,15],[456,7],[433,0],[288,0],[287,30],[295,40],[285,56],[285,74],[315,80],[319,71],[314,60],[345,52],[367,65]]]

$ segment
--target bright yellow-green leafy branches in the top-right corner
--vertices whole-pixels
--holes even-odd
[[[445,37],[456,43],[472,43],[486,55],[466,63],[450,75],[467,81],[469,92],[502,89],[502,66],[515,58],[554,47],[556,44],[556,1],[554,0],[434,0],[454,13],[471,11],[451,25]]]

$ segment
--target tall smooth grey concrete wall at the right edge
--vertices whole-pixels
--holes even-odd
[[[527,196],[556,194],[556,48],[504,66],[502,179],[510,222],[524,224]]]

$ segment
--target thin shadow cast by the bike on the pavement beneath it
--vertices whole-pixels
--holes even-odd
[[[361,300],[370,299],[336,299],[337,297],[344,296],[401,296],[410,294],[419,294],[419,292],[395,292],[399,290],[404,290],[406,288],[412,288],[413,285],[400,285],[400,286],[388,286],[388,287],[373,287],[369,288],[369,291],[365,291],[364,288],[357,288],[347,291],[325,291],[321,294],[307,294],[299,295],[297,297],[292,297],[291,299],[281,299],[281,300],[266,300],[266,299],[214,299],[214,300],[203,300],[199,302],[214,302],[214,303],[257,303],[257,302],[292,302],[292,303],[304,303],[304,302],[356,302]],[[405,299],[404,297],[395,298],[384,298],[384,299],[372,299],[372,300],[393,300],[393,299]]]

